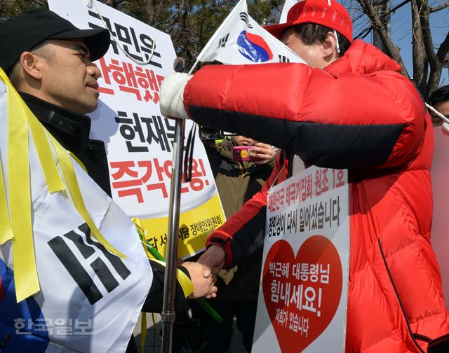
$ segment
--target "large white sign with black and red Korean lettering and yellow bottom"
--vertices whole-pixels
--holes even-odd
[[[77,27],[107,27],[115,39],[97,62],[102,73],[100,104],[90,114],[91,138],[107,146],[112,198],[128,216],[140,218],[149,243],[164,254],[175,122],[159,111],[159,88],[173,72],[170,36],[95,0],[48,4]],[[188,121],[186,130],[191,126]],[[181,188],[182,258],[203,249],[207,235],[225,221],[198,136],[194,144],[192,181],[183,180]]]

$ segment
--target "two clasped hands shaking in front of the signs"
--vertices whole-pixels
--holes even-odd
[[[209,247],[197,262],[182,263],[182,266],[189,271],[194,285],[194,293],[190,298],[215,298],[217,296],[215,280],[223,265],[225,265],[225,250],[216,245]]]

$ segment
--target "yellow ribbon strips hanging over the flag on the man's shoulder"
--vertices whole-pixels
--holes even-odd
[[[32,230],[28,127],[32,133],[48,191],[54,193],[66,190],[63,182],[65,179],[74,206],[91,228],[93,237],[112,253],[122,258],[126,256],[112,247],[93,223],[79,190],[74,166],[68,152],[39,123],[1,69],[0,79],[6,85],[8,102],[8,185],[5,184],[0,163],[0,244],[8,240],[13,241],[14,283],[16,298],[20,302],[40,291]],[[60,162],[62,175],[58,170],[48,138],[51,139],[56,158]]]

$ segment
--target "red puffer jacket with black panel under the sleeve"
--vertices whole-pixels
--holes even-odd
[[[417,343],[426,351],[420,335],[449,333],[430,245],[432,125],[396,62],[354,41],[323,70],[204,67],[187,84],[185,106],[201,125],[293,151],[307,165],[349,169],[347,352],[420,352]],[[288,158],[278,160],[262,191],[210,235],[226,265],[263,241],[267,191],[288,167]]]

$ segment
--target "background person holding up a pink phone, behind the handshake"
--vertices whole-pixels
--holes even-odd
[[[222,207],[229,219],[260,191],[274,168],[277,148],[241,135],[205,146]],[[234,160],[234,146],[250,148],[250,160]],[[224,321],[217,324],[203,310],[194,312],[194,317],[201,317],[200,321],[208,327],[205,353],[227,352],[234,316],[246,352],[251,352],[261,268],[262,247],[259,247],[238,266],[220,271],[217,298],[210,303]]]

